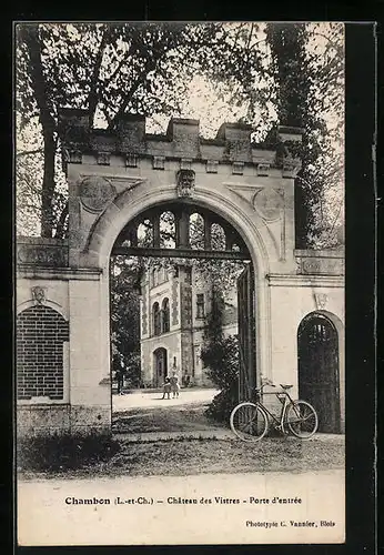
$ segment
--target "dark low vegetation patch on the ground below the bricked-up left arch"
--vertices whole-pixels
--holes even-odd
[[[120,450],[109,434],[65,433],[18,440],[21,471],[65,471],[109,461]]]

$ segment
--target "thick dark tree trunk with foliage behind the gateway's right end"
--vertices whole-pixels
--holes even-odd
[[[332,246],[343,203],[342,26],[273,23],[266,36],[279,120],[304,131],[302,144],[290,145],[302,160],[295,183],[296,246]],[[319,37],[325,41],[322,52]]]

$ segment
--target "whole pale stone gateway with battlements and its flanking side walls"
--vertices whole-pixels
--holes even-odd
[[[246,249],[254,383],[292,383],[293,397],[304,391],[323,407],[327,431],[343,432],[344,253],[295,249],[300,161],[281,145],[301,130],[280,127],[255,144],[235,123],[205,140],[196,120],[172,119],[163,135],[146,134],[142,117],[123,117],[111,133],[90,129],[82,110],[62,110],[60,121],[68,238],[17,243],[19,436],[111,431],[110,256],[140,214],[174,204],[214,213]]]

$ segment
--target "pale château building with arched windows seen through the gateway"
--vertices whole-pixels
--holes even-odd
[[[212,284],[193,265],[153,266],[142,280],[141,372],[146,386],[175,370],[182,385],[210,386],[201,360]],[[236,290],[225,299],[224,335],[238,333]]]

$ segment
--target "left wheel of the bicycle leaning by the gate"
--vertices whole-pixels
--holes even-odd
[[[232,432],[244,442],[257,442],[267,432],[267,415],[254,403],[240,403],[231,413]]]

